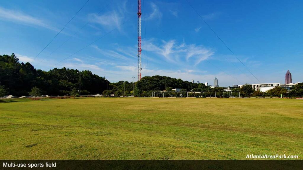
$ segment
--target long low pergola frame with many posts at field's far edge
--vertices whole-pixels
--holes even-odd
[[[186,96],[182,96],[181,95],[181,98],[182,97],[188,97],[188,93],[194,93],[194,97],[196,97],[195,96],[195,94],[196,93],[199,93],[199,96],[200,96],[200,98],[202,98],[203,96],[202,96],[202,93],[206,93],[207,92],[207,97],[209,97],[209,93],[212,93],[212,92],[215,92],[215,97],[216,97],[216,93],[217,92],[222,92],[222,97],[224,98],[224,93],[230,93],[230,96],[231,96],[231,92],[238,92],[238,94],[239,94],[239,98],[241,97],[240,96],[240,91],[238,91],[238,90],[235,90],[235,91],[224,91],[224,90],[217,90],[217,91],[213,91],[213,90],[211,90],[211,91],[153,91],[152,93],[151,93],[151,97],[164,97],[164,94],[167,94],[168,93],[168,96],[170,97],[170,95],[171,94],[174,94],[174,97],[177,97],[178,95],[178,93],[186,93]],[[159,96],[159,93],[160,93],[160,96]]]

